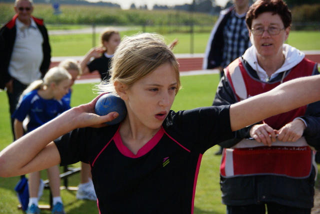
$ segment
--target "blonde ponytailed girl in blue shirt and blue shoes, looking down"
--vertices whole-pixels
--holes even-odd
[[[23,91],[17,108],[12,115],[15,118],[14,134],[16,139],[20,138],[24,133],[22,124],[24,119],[27,119],[26,132],[30,132],[69,109],[69,105],[61,99],[69,90],[70,79],[71,75],[66,69],[53,67],[44,75],[43,80],[32,82]],[[43,133],[40,138],[45,138],[45,135],[46,133]],[[62,214],[64,211],[60,197],[59,168],[56,164],[45,168],[47,168],[53,198],[52,213]],[[26,213],[39,213],[40,170],[30,170],[25,173],[29,173],[29,204]]]

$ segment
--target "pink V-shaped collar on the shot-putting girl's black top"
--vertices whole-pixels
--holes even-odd
[[[136,158],[136,157],[140,157],[143,156],[144,154],[146,154],[147,152],[149,152],[161,139],[161,137],[164,134],[164,130],[161,126],[161,128],[158,130],[158,132],[156,132],[156,134],[147,142],[145,143],[136,154],[132,153],[132,151],[130,151],[122,142],[119,130],[116,131],[116,133],[114,134],[113,140],[115,142],[116,147],[118,148],[118,150],[127,157],[132,157],[132,158]]]

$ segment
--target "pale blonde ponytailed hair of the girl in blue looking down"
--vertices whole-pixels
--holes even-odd
[[[59,84],[65,79],[71,79],[70,73],[63,67],[52,67],[50,68],[42,79],[35,80],[29,84],[29,86],[22,92],[20,98],[22,98],[26,93],[35,90],[43,89],[48,87],[52,82]]]

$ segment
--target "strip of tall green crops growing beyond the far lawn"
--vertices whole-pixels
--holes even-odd
[[[33,15],[43,18],[45,23],[60,24],[168,24],[190,23],[212,24],[216,16],[177,10],[122,10],[106,6],[67,5],[61,4],[60,14],[53,14],[51,4],[35,4]],[[14,15],[12,4],[0,3],[0,23],[5,23]]]

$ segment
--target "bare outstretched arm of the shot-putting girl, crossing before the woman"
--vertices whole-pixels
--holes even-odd
[[[274,89],[230,106],[231,129],[320,100],[320,75],[287,81]]]

